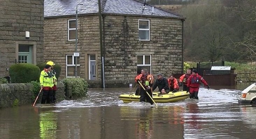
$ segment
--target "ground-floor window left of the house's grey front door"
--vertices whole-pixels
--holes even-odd
[[[75,77],[76,60],[74,55],[66,55],[66,77]],[[80,58],[77,57],[77,76],[80,76]]]

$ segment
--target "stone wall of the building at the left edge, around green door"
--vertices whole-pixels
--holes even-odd
[[[43,0],[0,2],[0,77],[9,76],[7,68],[16,63],[17,43],[35,44],[36,62],[43,61],[43,4]]]

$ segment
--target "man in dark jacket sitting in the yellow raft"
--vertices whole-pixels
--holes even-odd
[[[168,81],[161,73],[157,74],[157,79],[152,86],[152,91],[154,91],[158,87],[159,95],[164,95],[170,92]]]

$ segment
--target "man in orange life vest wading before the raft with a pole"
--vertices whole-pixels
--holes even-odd
[[[138,84],[141,83],[144,87],[143,88],[140,86],[140,96],[141,96],[140,102],[147,100],[148,103],[153,105],[151,87],[154,82],[154,77],[152,75],[148,74],[148,70],[144,68],[141,70],[141,74],[139,74],[135,77],[135,82],[137,82]],[[148,94],[146,91],[148,92]]]

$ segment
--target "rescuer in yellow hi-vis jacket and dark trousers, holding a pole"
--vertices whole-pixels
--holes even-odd
[[[45,104],[45,101],[46,103],[52,103],[52,87],[57,79],[51,72],[51,65],[45,65],[44,70],[41,71],[39,81],[43,88],[41,104]]]

